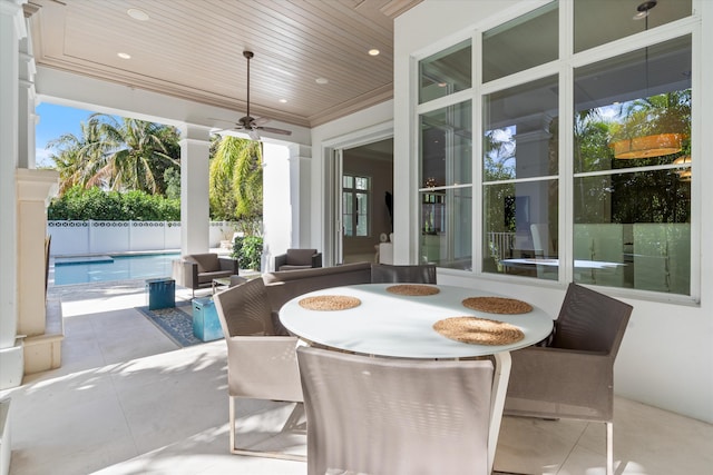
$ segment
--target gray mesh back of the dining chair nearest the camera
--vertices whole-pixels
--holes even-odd
[[[312,347],[297,348],[297,360],[309,475],[488,473],[491,362]]]

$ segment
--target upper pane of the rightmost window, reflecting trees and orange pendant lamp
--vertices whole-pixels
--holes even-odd
[[[667,165],[690,136],[690,37],[575,70],[575,172]]]

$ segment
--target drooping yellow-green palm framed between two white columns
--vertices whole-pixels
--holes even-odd
[[[263,212],[262,146],[224,136],[211,160],[209,201],[217,219],[256,219]]]

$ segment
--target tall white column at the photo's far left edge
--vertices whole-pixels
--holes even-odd
[[[25,1],[0,0],[0,389],[19,385],[14,379],[22,375],[22,359],[13,348],[18,325],[18,48],[27,36]]]

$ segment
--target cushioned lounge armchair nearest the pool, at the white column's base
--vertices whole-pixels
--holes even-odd
[[[177,285],[189,288],[194,296],[196,289],[211,287],[213,279],[231,277],[240,271],[237,259],[215,253],[189,254],[172,264],[172,278]]]

